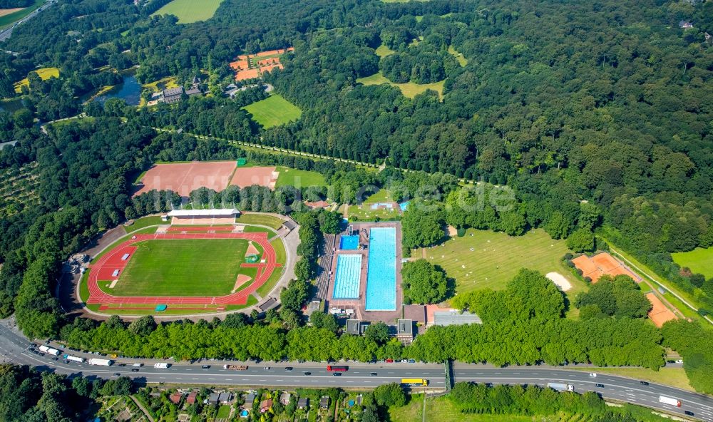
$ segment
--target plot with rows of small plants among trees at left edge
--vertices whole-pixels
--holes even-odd
[[[37,163],[0,170],[0,218],[9,217],[39,202],[35,189],[39,185]]]

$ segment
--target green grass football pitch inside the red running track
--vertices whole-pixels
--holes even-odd
[[[116,296],[223,296],[238,274],[255,278],[255,268],[241,268],[247,240],[145,240],[130,257],[116,285],[103,291]],[[262,254],[262,248],[255,245]]]

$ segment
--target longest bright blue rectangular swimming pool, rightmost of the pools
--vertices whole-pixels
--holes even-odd
[[[369,230],[365,309],[396,310],[396,227],[372,227]]]

